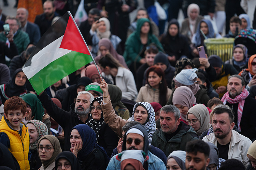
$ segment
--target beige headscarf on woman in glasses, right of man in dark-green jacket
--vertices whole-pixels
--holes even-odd
[[[201,134],[208,130],[211,126],[210,124],[210,113],[203,104],[196,104],[195,106],[191,107],[188,112],[188,114],[193,114],[200,122],[200,128],[196,131],[198,136],[201,136]]]

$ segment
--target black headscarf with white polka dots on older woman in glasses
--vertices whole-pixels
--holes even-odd
[[[93,106],[93,103],[94,102],[98,102],[101,106],[101,102],[103,101],[103,97],[100,96],[100,97],[96,97],[94,98],[94,100],[91,102],[91,105],[90,106]],[[98,142],[98,139],[99,139],[99,131],[100,129],[102,128],[102,125],[105,123],[104,122],[104,117],[103,117],[103,111],[101,109],[101,116],[100,116],[100,120],[94,120],[93,119],[93,116],[91,116],[91,113],[90,113],[90,120],[86,123],[88,126],[90,126],[90,128],[92,130],[94,130],[94,132],[96,133],[96,143]]]

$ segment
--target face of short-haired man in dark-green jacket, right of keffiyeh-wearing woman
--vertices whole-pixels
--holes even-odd
[[[160,125],[164,133],[171,134],[177,130],[181,119],[175,120],[174,113],[160,112]]]

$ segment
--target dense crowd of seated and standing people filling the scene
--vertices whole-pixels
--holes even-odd
[[[204,43],[255,32],[246,8],[159,1],[160,20],[154,2],[130,21],[137,0],[84,0],[79,29],[96,64],[40,94],[22,67],[77,1],[18,0],[16,16],[0,10],[0,169],[256,169],[255,42],[234,42],[227,61],[208,57]]]

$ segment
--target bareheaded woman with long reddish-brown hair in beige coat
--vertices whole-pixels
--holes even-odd
[[[167,87],[162,69],[151,66],[147,70],[147,84],[140,88],[136,102],[157,102],[164,106],[171,94],[172,90]]]

